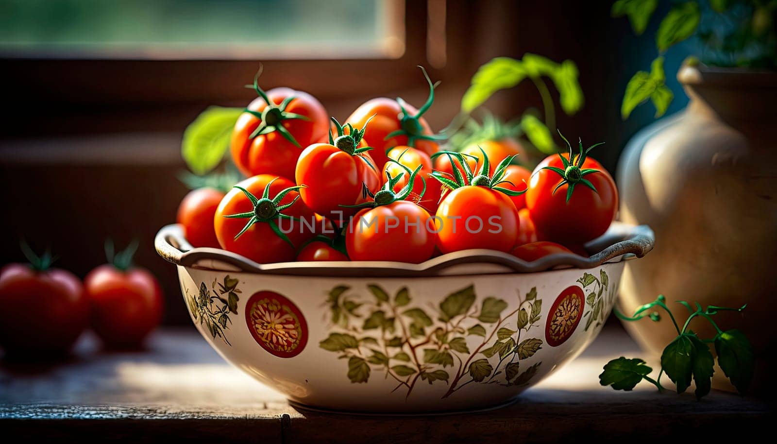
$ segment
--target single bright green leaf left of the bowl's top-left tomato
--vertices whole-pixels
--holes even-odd
[[[208,107],[186,127],[181,156],[193,173],[205,174],[221,163],[242,112],[242,108]]]

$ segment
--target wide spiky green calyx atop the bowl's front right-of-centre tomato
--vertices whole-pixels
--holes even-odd
[[[493,171],[493,175],[489,175],[490,173],[490,162],[488,159],[488,156],[486,156],[486,152],[483,151],[482,148],[478,147],[480,149],[481,154],[483,154],[483,163],[478,167],[477,163],[475,165],[475,170],[472,170],[472,168],[469,166],[469,163],[467,162],[467,158],[475,159],[477,162],[478,158],[476,156],[472,156],[471,154],[465,154],[463,152],[453,152],[453,151],[440,151],[435,152],[431,157],[434,159],[438,156],[448,156],[448,160],[451,162],[452,170],[453,170],[453,177],[451,178],[450,175],[446,173],[442,173],[441,171],[434,170],[432,171],[432,176],[434,176],[435,179],[439,180],[441,184],[443,184],[445,187],[450,188],[451,190],[455,190],[456,188],[461,187],[487,187],[491,188],[492,190],[500,191],[501,193],[507,194],[508,196],[520,196],[521,194],[524,194],[526,191],[514,191],[514,190],[508,190],[505,187],[500,187],[501,184],[510,184],[515,187],[515,184],[510,182],[510,180],[504,180],[505,174],[507,174],[507,166],[510,166],[510,163],[513,162],[513,159],[515,159],[515,156],[517,154],[514,154],[513,156],[507,156],[506,158],[502,159],[502,161],[497,165],[496,170]],[[462,176],[462,173],[458,170],[456,167],[455,160],[458,160],[458,163],[462,166],[462,170],[464,170],[464,175]]]

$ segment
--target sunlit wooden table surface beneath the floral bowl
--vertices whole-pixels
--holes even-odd
[[[162,330],[147,351],[99,352],[86,337],[70,362],[0,367],[0,431],[19,439],[169,442],[646,442],[770,431],[763,401],[714,392],[696,401],[599,386],[608,359],[642,355],[607,328],[584,355],[496,411],[387,417],[298,410],[227,365],[193,330]],[[655,368],[655,367],[654,367]],[[206,377],[203,377],[206,376]],[[8,442],[8,441],[6,441]],[[177,439],[176,439],[177,442]]]

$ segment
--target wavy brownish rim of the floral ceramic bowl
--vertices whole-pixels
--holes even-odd
[[[527,262],[510,253],[496,250],[462,250],[433,257],[420,264],[386,261],[329,261],[329,262],[278,262],[258,264],[247,257],[227,250],[210,247],[193,247],[183,236],[179,224],[162,227],[154,239],[157,253],[163,259],[181,267],[193,267],[211,271],[246,272],[253,274],[349,277],[349,278],[394,278],[428,277],[441,275],[535,273],[555,268],[577,267],[587,269],[608,262],[643,257],[653,250],[655,236],[647,225],[629,225],[613,222],[604,235],[585,245],[587,251],[595,252],[591,257],[573,253],[555,253]],[[480,270],[475,267],[451,267],[462,265],[496,265],[503,271]]]

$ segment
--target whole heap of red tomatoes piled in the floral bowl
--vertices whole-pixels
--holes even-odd
[[[524,260],[584,254],[615,218],[618,194],[580,143],[532,173],[514,138],[441,149],[423,114],[376,98],[344,124],[315,97],[264,92],[232,132],[232,161],[247,177],[231,191],[192,191],[178,222],[193,246],[220,247],[265,264],[291,260],[420,263],[476,248]],[[563,136],[562,136],[563,137]],[[566,141],[566,139],[565,139]],[[596,145],[594,145],[596,146]]]

